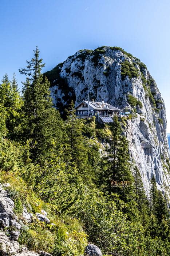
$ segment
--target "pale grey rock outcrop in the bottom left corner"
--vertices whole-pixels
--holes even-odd
[[[0,184],[0,255],[51,256],[50,253],[43,251],[40,251],[39,253],[30,252],[28,251],[27,247],[21,246],[17,242],[20,235],[21,225],[23,223],[18,220],[17,216],[15,215],[13,211],[14,202],[11,200],[8,192],[3,187],[10,187],[10,184]],[[32,217],[33,215],[28,213],[27,209],[24,207],[23,218],[25,221],[31,222]]]

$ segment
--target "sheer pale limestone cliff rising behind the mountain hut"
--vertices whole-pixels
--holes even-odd
[[[161,93],[146,65],[117,47],[80,50],[45,74],[51,82],[51,96],[60,111],[88,98],[130,110],[126,136],[134,166],[149,193],[154,175],[158,188],[168,193],[169,149],[166,112]],[[129,96],[131,95],[131,96]]]

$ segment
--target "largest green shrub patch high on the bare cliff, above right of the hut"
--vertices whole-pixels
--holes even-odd
[[[126,76],[129,76],[129,78],[134,78],[139,75],[138,69],[134,67],[133,64],[131,64],[129,61],[125,60],[123,63],[121,63],[121,76],[124,80]]]

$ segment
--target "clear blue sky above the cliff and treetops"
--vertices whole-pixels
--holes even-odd
[[[169,0],[0,0],[0,80],[36,45],[52,69],[80,49],[119,46],[143,61],[165,100],[170,132]]]

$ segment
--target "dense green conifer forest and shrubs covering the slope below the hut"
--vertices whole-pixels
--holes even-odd
[[[36,48],[20,69],[22,92],[15,74],[0,84],[0,182],[10,183],[18,218],[25,206],[50,219],[25,223],[20,244],[55,256],[83,255],[88,242],[103,255],[169,255],[167,202],[154,176],[145,195],[123,135],[126,118],[78,119],[72,102],[63,119],[43,67]],[[130,185],[112,187],[111,180]]]

